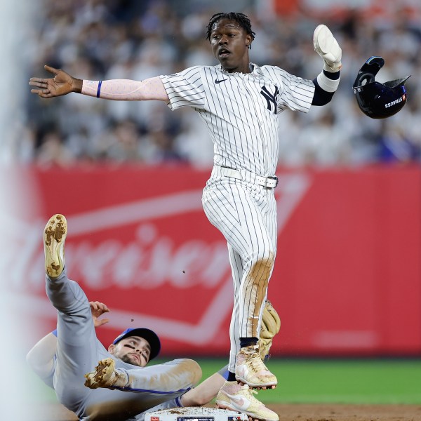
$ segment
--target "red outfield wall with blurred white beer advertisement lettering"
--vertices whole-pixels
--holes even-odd
[[[8,217],[10,248],[0,264],[14,268],[11,293],[21,295],[43,334],[55,327],[42,232],[48,216],[63,213],[69,277],[112,309],[111,322],[98,330],[102,342],[148,326],[165,355],[227,355],[232,285],[225,240],[201,208],[208,174],[129,166],[19,170],[25,177],[18,188],[31,206]],[[278,175],[269,299],[282,327],[273,354],[420,355],[421,170]]]

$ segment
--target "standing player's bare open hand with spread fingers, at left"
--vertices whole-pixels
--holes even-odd
[[[29,79],[29,85],[36,86],[37,89],[31,89],[32,93],[36,93],[41,98],[53,98],[60,95],[67,95],[71,92],[81,92],[82,81],[75,79],[60,69],[55,69],[45,65],[44,69],[53,73],[55,76],[51,79],[43,79],[40,77],[32,77]]]

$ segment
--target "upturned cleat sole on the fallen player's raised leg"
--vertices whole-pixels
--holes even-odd
[[[66,234],[66,218],[60,213],[52,216],[44,229],[46,274],[52,279],[58,278],[65,268]]]

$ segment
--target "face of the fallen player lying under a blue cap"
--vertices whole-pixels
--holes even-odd
[[[151,347],[149,342],[140,336],[129,336],[117,342],[109,352],[125,363],[145,367],[149,362]]]

